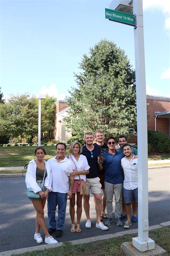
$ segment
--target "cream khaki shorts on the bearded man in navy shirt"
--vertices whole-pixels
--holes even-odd
[[[101,193],[101,183],[99,177],[96,178],[86,178],[86,186],[87,186],[87,193],[86,195],[90,194],[90,189],[92,194],[100,194]]]

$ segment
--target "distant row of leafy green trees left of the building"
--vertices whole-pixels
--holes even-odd
[[[46,96],[41,101],[41,137],[53,139],[55,122],[56,98]],[[32,139],[38,134],[38,99],[30,94],[11,94],[8,100],[3,100],[0,93],[0,143],[4,138],[19,137]],[[8,143],[8,142],[7,142]]]

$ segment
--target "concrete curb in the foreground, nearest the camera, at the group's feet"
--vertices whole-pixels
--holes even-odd
[[[170,221],[162,222],[159,225],[150,226],[149,231],[154,230],[154,229],[159,229],[159,228],[165,228],[167,226],[170,226]],[[74,241],[67,241],[67,243],[69,242],[69,243],[71,243],[71,245],[83,244],[83,243],[95,242],[95,241],[105,240],[105,239],[114,238],[114,237],[122,237],[123,235],[136,234],[136,233],[138,233],[138,229],[132,229],[132,230],[121,231],[121,232],[118,232],[118,233],[115,233],[115,234],[99,235],[97,237],[89,237],[89,238],[84,238],[84,239],[79,239],[79,240],[74,240]],[[60,243],[57,243],[57,244],[44,244],[44,245],[41,245],[41,246],[20,248],[20,249],[11,250],[11,251],[0,252],[0,256],[11,256],[13,254],[21,254],[21,253],[24,253],[24,252],[45,250],[45,249],[49,249],[49,248],[59,247],[59,246],[62,246],[62,245],[63,245],[63,242],[60,242]]]

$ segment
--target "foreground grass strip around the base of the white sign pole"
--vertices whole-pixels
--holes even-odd
[[[99,240],[97,242],[84,243],[79,245],[72,245],[70,242],[64,243],[60,247],[26,252],[19,254],[20,256],[74,256],[74,255],[89,255],[89,256],[121,256],[121,244],[124,242],[132,241],[132,237],[135,235],[124,235],[122,237],[110,238],[107,240]],[[161,228],[149,232],[149,237],[155,241],[155,243],[164,248],[167,253],[170,253],[170,228]]]

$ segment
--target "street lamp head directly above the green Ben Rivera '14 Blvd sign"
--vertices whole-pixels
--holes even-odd
[[[113,0],[109,5],[109,9],[133,14],[133,0]]]

